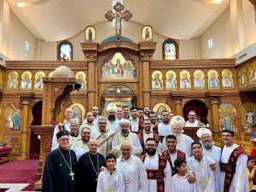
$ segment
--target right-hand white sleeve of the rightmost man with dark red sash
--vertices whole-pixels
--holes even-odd
[[[234,180],[235,179],[235,180]],[[236,160],[236,173],[233,181],[236,183],[235,192],[247,192],[249,189],[249,182],[247,177],[247,155],[240,154]]]

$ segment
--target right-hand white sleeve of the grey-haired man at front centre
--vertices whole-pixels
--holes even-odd
[[[148,175],[146,166],[143,164],[142,160],[137,160],[138,167],[138,192],[148,192]]]

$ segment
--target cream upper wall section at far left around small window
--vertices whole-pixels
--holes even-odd
[[[30,44],[30,50],[25,51],[25,41]],[[7,56],[11,60],[35,60],[36,59],[36,38],[24,26],[16,15],[9,12],[9,45]]]

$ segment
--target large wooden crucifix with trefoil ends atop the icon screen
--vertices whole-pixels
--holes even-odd
[[[128,21],[131,19],[132,14],[129,10],[125,10],[124,13],[122,13],[122,10],[124,10],[124,5],[121,3],[116,3],[113,6],[113,10],[115,10],[115,13],[113,11],[109,10],[107,14],[105,14],[105,18],[108,21],[112,21],[115,19],[115,35],[117,40],[121,39],[121,20],[124,19],[125,21]]]

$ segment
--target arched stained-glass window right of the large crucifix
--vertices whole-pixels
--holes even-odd
[[[163,44],[163,59],[176,60],[177,58],[178,58],[177,42],[169,38]]]

